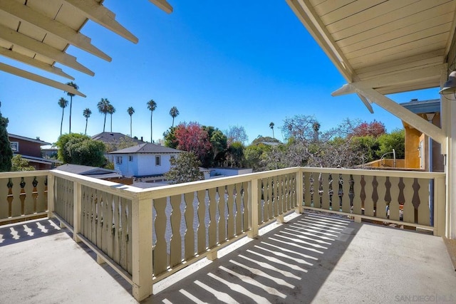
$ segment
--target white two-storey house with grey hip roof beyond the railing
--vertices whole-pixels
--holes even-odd
[[[146,180],[162,177],[170,171],[170,159],[179,153],[180,150],[145,142],[109,154],[115,169],[120,170],[125,177]]]

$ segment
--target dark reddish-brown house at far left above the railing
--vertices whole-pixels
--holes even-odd
[[[46,170],[56,167],[56,164],[61,163],[56,159],[47,159],[41,156],[41,146],[51,145],[50,142],[28,138],[24,136],[9,134],[9,142],[11,142],[11,150],[14,154],[21,154],[23,159],[28,161],[28,164],[35,167],[37,170]]]

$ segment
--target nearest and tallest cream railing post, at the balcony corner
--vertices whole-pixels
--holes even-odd
[[[133,296],[144,300],[152,294],[152,201],[132,201]]]

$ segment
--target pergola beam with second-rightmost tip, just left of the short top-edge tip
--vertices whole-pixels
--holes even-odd
[[[124,28],[122,24],[115,21],[115,14],[109,9],[106,9],[105,6],[99,4],[97,1],[65,0],[65,2],[81,11],[86,18],[100,24],[100,26],[110,29],[110,31],[117,33],[119,36],[122,36],[128,41],[138,43],[138,38],[133,35],[133,33],[130,33],[130,31]]]

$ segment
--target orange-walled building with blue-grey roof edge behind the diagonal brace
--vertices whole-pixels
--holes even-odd
[[[413,99],[400,105],[423,117],[432,125],[441,127],[440,99],[422,101]],[[403,122],[403,125],[405,129],[405,168],[443,172],[445,164],[440,144],[406,122]]]

